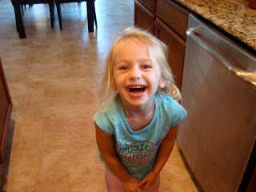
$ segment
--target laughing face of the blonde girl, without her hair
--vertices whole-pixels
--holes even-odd
[[[144,107],[154,103],[154,94],[165,82],[160,79],[158,63],[153,65],[146,46],[136,41],[126,42],[114,56],[114,85],[124,107]]]

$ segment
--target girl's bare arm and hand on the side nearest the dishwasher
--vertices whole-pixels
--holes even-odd
[[[154,183],[158,174],[160,174],[162,167],[166,164],[170,153],[173,150],[177,133],[178,126],[171,127],[166,134],[166,137],[162,140],[162,143],[158,149],[158,154],[153,169],[150,171],[149,174],[146,175],[145,178],[142,179],[142,182],[138,183],[138,186],[140,186],[143,190]]]

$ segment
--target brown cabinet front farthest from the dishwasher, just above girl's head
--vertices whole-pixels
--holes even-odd
[[[134,4],[134,25],[148,30],[154,34],[155,15],[147,10],[142,4],[135,0]]]

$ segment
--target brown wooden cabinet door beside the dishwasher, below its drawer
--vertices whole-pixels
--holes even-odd
[[[170,30],[158,18],[155,26],[155,36],[166,43],[169,48],[169,65],[174,74],[174,81],[178,89],[182,89],[182,72],[186,42],[179,38],[174,31]]]

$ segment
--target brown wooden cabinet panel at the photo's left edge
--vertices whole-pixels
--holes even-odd
[[[2,164],[5,150],[6,138],[9,129],[10,114],[12,109],[9,90],[6,84],[5,74],[3,73],[2,62],[0,58],[0,163]]]

